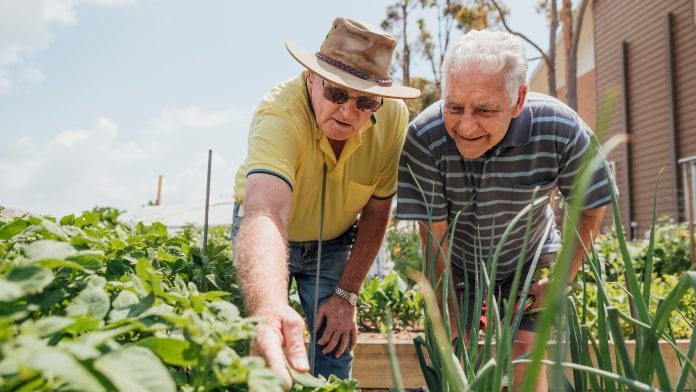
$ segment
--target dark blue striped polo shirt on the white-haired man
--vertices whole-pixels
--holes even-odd
[[[453,271],[461,279],[466,266],[472,276],[475,264],[480,270],[481,260],[495,250],[510,221],[530,204],[537,186],[537,198],[558,188],[569,200],[591,137],[592,130],[568,106],[529,93],[522,113],[512,120],[500,144],[479,158],[467,159],[447,134],[442,102],[436,102],[409,125],[399,163],[396,217],[427,221],[430,210],[433,221],[451,223],[461,211],[451,244]],[[609,184],[605,169],[598,167],[584,208],[608,204]],[[548,199],[533,209],[525,263],[532,261],[547,223],[553,220]],[[498,262],[498,281],[515,272],[526,222],[526,217],[520,220],[507,239]],[[542,252],[558,252],[560,246],[560,235],[552,226]]]

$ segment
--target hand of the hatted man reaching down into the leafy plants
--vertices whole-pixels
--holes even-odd
[[[260,310],[256,316],[264,318],[257,327],[252,353],[260,354],[268,367],[285,379],[286,389],[292,386],[292,378],[285,368],[285,360],[295,370],[309,370],[307,350],[304,345],[304,320],[290,306]]]

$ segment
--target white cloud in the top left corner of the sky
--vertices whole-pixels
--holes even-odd
[[[24,60],[50,45],[54,39],[51,29],[55,24],[77,22],[75,7],[127,6],[135,2],[136,0],[0,1],[0,93],[9,91],[16,78],[32,83],[43,80],[41,71],[36,67],[26,66]],[[13,76],[15,72],[18,76]]]

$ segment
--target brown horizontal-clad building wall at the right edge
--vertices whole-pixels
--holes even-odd
[[[636,232],[642,235],[650,226],[655,182],[662,168],[658,215],[675,219],[685,216],[683,186],[674,165],[676,160],[696,154],[696,19],[693,0],[662,0],[659,6],[650,0],[633,0],[630,7],[627,3],[595,0],[593,4],[596,97],[600,107],[610,105],[607,97],[612,91],[618,97],[604,139],[624,132],[630,135],[628,144],[611,151],[609,159],[616,164],[624,225],[629,225],[629,219],[635,221]],[[668,13],[673,15],[671,32],[666,28]],[[670,35],[674,48],[671,60],[676,142],[670,131]],[[627,44],[625,79],[622,42]],[[624,85],[627,95],[623,94]]]

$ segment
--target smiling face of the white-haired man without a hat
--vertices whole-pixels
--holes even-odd
[[[482,74],[473,67],[452,72],[444,94],[447,133],[465,158],[478,158],[505,137],[510,121],[520,115],[526,86],[510,104],[503,73]]]

